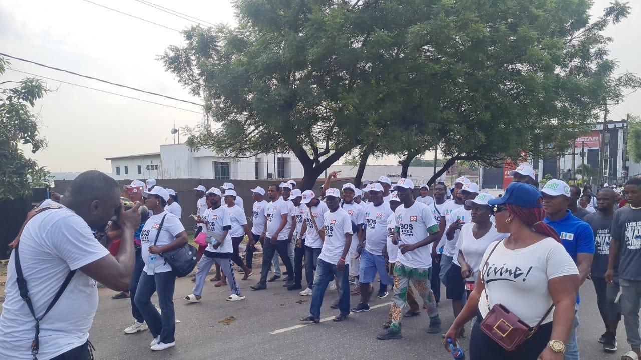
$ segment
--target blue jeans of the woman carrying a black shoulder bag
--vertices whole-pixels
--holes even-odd
[[[174,311],[174,288],[176,287],[176,275],[173,272],[158,272],[154,275],[147,275],[142,272],[136,297],[136,306],[147,322],[151,336],[160,336],[160,342],[164,344],[176,341],[176,311]],[[151,303],[151,295],[158,293],[158,305],[162,313]]]

